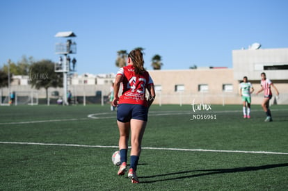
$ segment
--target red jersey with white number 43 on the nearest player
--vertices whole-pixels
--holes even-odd
[[[123,76],[123,92],[119,98],[118,104],[130,103],[147,107],[145,90],[148,85],[153,85],[150,74],[145,71],[143,74],[136,75],[134,73],[134,66],[127,65],[121,67],[117,72],[117,75]]]

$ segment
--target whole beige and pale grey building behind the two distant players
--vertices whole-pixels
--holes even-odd
[[[280,92],[271,103],[288,104],[288,49],[242,49],[232,51],[233,68],[154,70],[150,75],[157,91],[157,104],[239,104],[239,83],[243,76],[260,87],[260,74],[266,73]],[[272,88],[272,92],[275,92]],[[263,95],[252,94],[253,104]]]

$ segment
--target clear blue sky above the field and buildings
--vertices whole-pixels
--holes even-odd
[[[55,38],[77,37],[78,74],[116,73],[117,51],[143,47],[145,68],[159,54],[162,69],[232,68],[232,50],[288,47],[286,0],[2,0],[0,68],[22,56],[58,62]]]

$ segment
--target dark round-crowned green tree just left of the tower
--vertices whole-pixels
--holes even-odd
[[[32,88],[45,88],[48,99],[48,88],[63,87],[63,74],[54,72],[54,63],[51,60],[40,60],[30,67],[30,83]],[[64,95],[66,96],[66,95]]]

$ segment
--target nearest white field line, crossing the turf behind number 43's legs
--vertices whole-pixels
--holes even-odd
[[[56,144],[56,143],[41,143],[41,142],[0,142],[0,144],[26,144],[26,145],[43,145],[43,146],[61,146],[61,147],[118,148],[118,146],[85,145],[85,144]],[[271,151],[230,151],[230,150],[211,150],[211,149],[177,149],[177,148],[163,148],[163,147],[142,147],[142,149],[166,150],[166,151],[200,151],[200,152],[217,152],[217,153],[259,153],[259,154],[288,155],[288,153],[271,152]]]

